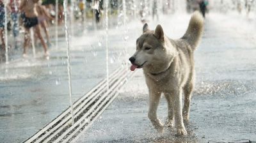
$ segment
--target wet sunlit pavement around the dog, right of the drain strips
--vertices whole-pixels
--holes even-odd
[[[188,20],[188,15],[171,15],[160,23],[166,35],[179,38]],[[140,70],[77,142],[255,142],[255,30],[255,20],[236,13],[207,15],[195,51],[196,87],[186,137],[175,136],[173,128],[156,133],[147,117],[148,91]],[[158,116],[163,122],[167,116],[164,98]]]

